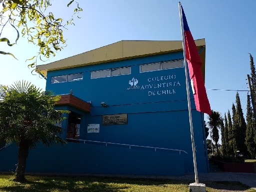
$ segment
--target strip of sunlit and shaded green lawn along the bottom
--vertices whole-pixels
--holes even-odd
[[[26,175],[26,183],[14,182],[13,175],[0,174],[0,191],[2,192],[184,192],[188,191],[189,180],[120,178],[98,176],[49,176]],[[207,181],[206,191],[248,191],[256,190],[240,182]]]

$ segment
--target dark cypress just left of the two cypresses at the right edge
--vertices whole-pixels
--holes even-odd
[[[233,120],[233,132],[234,132],[234,146],[235,150],[239,150],[242,154],[247,154],[247,147],[245,145],[246,136],[246,123],[243,117],[243,112],[240,103],[240,97],[238,92],[235,96],[236,111]]]

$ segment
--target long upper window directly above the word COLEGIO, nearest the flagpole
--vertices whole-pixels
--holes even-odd
[[[168,68],[183,67],[183,60],[168,60],[162,62],[154,62],[149,64],[141,64],[140,72],[162,70]]]

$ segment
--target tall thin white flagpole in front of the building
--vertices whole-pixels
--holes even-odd
[[[194,163],[194,179],[195,183],[199,183],[198,175],[197,175],[197,166],[196,166],[196,156],[195,156],[195,146],[194,146],[194,133],[193,133],[193,122],[191,115],[191,103],[189,96],[189,85],[187,79],[187,63],[186,63],[186,50],[185,50],[185,41],[184,41],[184,28],[183,28],[183,18],[181,13],[181,4],[178,2],[179,8],[179,18],[180,18],[180,27],[181,27],[181,35],[182,35],[182,47],[183,47],[183,56],[184,56],[184,68],[185,68],[185,78],[186,78],[186,94],[187,94],[187,105],[188,105],[188,114],[189,114],[189,123],[190,123],[190,133],[191,133],[191,142],[192,142],[192,151],[193,151],[193,163]]]

